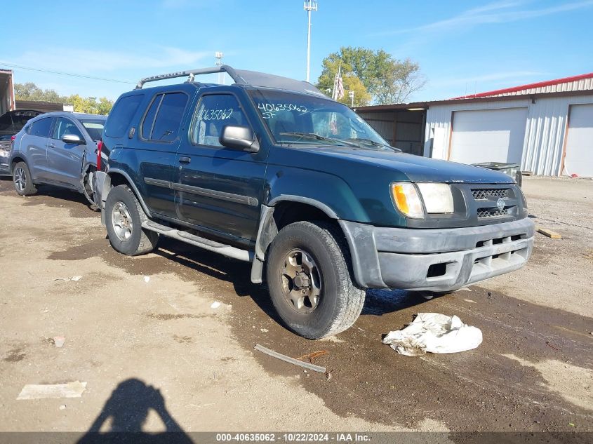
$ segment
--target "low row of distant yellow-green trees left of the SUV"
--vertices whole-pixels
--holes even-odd
[[[74,106],[75,112],[88,114],[109,114],[113,107],[113,101],[107,97],[81,97],[73,94],[68,97],[59,95],[52,89],[41,89],[35,83],[15,83],[16,100],[41,100],[44,102],[67,103]]]

